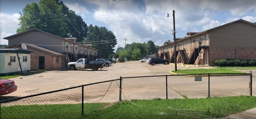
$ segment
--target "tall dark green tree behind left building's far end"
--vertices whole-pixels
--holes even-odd
[[[93,44],[92,47],[98,49],[101,58],[106,59],[110,54],[113,54],[117,39],[112,31],[106,27],[88,26],[87,39],[88,44]]]

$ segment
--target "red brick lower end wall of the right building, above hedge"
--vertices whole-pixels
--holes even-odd
[[[215,48],[209,49],[209,55],[210,66],[216,59],[256,60],[256,48]]]

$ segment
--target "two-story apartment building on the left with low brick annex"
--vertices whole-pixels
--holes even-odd
[[[80,58],[87,58],[89,60],[95,60],[98,58],[98,49],[91,48],[85,44],[80,44],[76,42],[76,38],[62,38],[38,29],[24,31],[22,33],[5,37],[4,39],[8,40],[9,46],[7,48],[15,48],[17,47],[17,44],[22,42],[24,44],[28,44],[29,48],[33,49],[33,51],[39,50],[40,54],[36,54],[37,52],[35,52],[31,55],[31,57],[34,57],[34,60],[36,61],[32,64],[35,66],[31,66],[34,67],[33,70],[36,68],[38,68],[38,70],[43,70],[44,68],[45,70],[57,70],[66,68],[68,62],[74,62]],[[49,57],[43,57],[48,55],[50,55],[49,57],[54,56],[55,58],[48,60]],[[46,66],[49,64],[54,65],[56,63],[54,61],[57,60],[58,62],[61,62],[61,64],[59,64],[61,67]]]

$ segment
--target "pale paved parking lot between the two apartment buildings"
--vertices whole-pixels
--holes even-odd
[[[197,69],[197,68],[213,68],[209,66],[178,66],[178,69]],[[22,97],[42,92],[49,92],[79,86],[83,84],[90,84],[93,82],[108,81],[119,79],[120,77],[137,77],[137,76],[151,76],[151,75],[170,75],[169,71],[174,70],[174,65],[157,64],[151,66],[145,62],[118,62],[112,66],[104,67],[102,70],[92,71],[88,70],[61,70],[61,71],[46,71],[35,75],[22,76],[13,78],[18,86],[18,90],[7,95],[0,96],[0,100],[9,99],[13,97]],[[247,72],[247,71],[246,71]],[[248,70],[249,73],[249,70]],[[252,70],[253,82],[256,81],[256,70]],[[253,95],[256,95],[256,83],[253,83]]]

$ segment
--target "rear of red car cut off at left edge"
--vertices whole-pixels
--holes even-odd
[[[6,95],[11,92],[15,92],[17,86],[15,82],[9,79],[0,79],[0,95]]]

